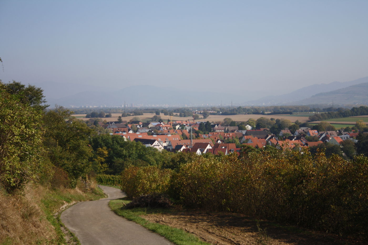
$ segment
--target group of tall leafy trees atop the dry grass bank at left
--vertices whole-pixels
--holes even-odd
[[[0,189],[8,193],[28,182],[74,188],[100,171],[90,146],[96,131],[63,107],[46,111],[43,98],[35,86],[0,81]]]

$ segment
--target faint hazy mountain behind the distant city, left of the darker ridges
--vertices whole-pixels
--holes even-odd
[[[107,90],[107,91],[106,91]],[[46,92],[46,90],[45,90]],[[130,86],[124,89],[90,89],[89,91],[79,92],[59,99],[47,97],[47,103],[50,105],[71,106],[104,106],[114,107],[122,106],[125,103],[134,106],[185,106],[185,105],[218,105],[230,103],[234,94],[223,92],[206,92],[200,90],[186,90],[176,88],[160,88],[151,85]]]

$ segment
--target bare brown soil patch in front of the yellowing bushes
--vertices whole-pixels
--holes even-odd
[[[337,235],[308,231],[293,226],[280,227],[267,221],[259,221],[265,235],[258,232],[256,221],[250,217],[231,213],[178,212],[173,214],[148,214],[142,216],[151,222],[181,228],[205,242],[221,245],[288,244],[327,245],[364,244],[342,240]]]

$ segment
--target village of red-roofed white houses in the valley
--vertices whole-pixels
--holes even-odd
[[[340,129],[318,132],[311,127],[300,127],[294,131],[286,127],[275,135],[270,133],[269,128],[245,125],[246,129],[240,130],[238,126],[222,126],[219,123],[194,120],[172,122],[168,120],[166,124],[141,121],[98,123],[107,129],[110,135],[120,135],[126,141],[141,142],[160,151],[192,152],[198,155],[206,153],[229,155],[234,152],[240,155],[241,149],[247,146],[259,150],[266,147],[301,150],[327,142],[340,146],[344,140],[356,143],[355,137],[358,136],[358,132],[354,131],[344,132]],[[201,132],[199,129],[204,127],[208,129],[208,134],[199,134],[198,132]]]

